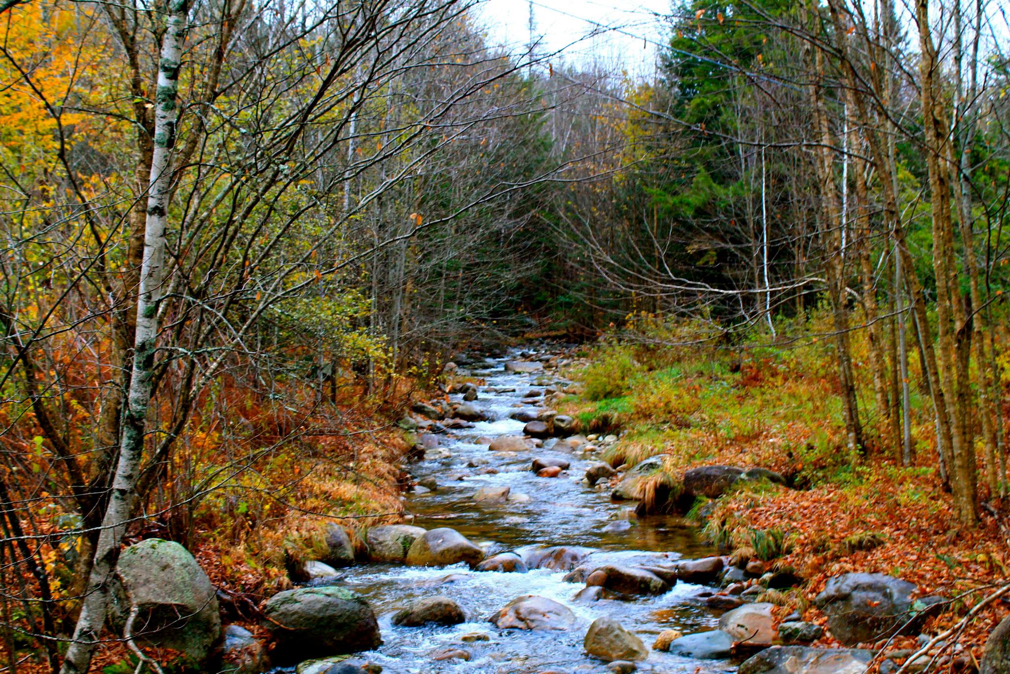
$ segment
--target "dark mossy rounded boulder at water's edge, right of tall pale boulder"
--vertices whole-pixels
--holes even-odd
[[[379,623],[364,597],[342,587],[302,587],[278,592],[263,609],[264,627],[277,639],[282,659],[305,660],[370,651],[380,644]]]

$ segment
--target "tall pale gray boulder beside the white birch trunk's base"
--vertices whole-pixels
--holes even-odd
[[[132,633],[139,645],[171,648],[203,663],[221,641],[216,590],[178,543],[147,539],[119,555],[109,606],[118,633],[134,605]]]

